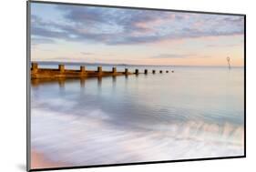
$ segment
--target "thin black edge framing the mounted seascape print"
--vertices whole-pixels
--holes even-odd
[[[179,13],[191,13],[191,14],[210,14],[210,15],[239,15],[244,17],[244,153],[242,156],[235,157],[204,157],[204,158],[192,158],[192,159],[177,159],[177,160],[164,160],[164,161],[149,161],[149,162],[135,162],[135,163],[121,163],[121,164],[108,164],[108,165],[93,165],[93,166],[78,166],[78,167],[49,167],[49,168],[36,168],[30,169],[30,53],[31,53],[31,32],[30,32],[30,4],[54,4],[54,5],[80,5],[80,6],[94,6],[94,7],[106,7],[106,8],[122,8],[122,9],[138,9],[138,10],[150,10],[150,11],[168,11]],[[205,11],[189,11],[189,10],[177,10],[177,9],[159,9],[148,7],[135,7],[135,6],[119,6],[119,5],[92,5],[92,4],[77,4],[77,3],[62,3],[62,2],[50,2],[50,1],[26,1],[26,170],[27,171],[47,171],[47,170],[60,170],[60,169],[75,169],[75,168],[88,168],[88,167],[118,167],[118,166],[130,166],[130,165],[147,165],[147,164],[159,164],[159,163],[174,163],[174,162],[188,162],[188,161],[202,161],[202,160],[218,160],[218,159],[230,159],[230,158],[244,158],[246,157],[246,15],[244,14],[232,14],[232,13],[220,13],[220,12],[205,12]]]

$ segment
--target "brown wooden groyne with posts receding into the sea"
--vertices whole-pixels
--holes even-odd
[[[169,70],[166,70],[169,73]],[[173,71],[172,71],[173,72]],[[162,73],[162,70],[159,71]],[[31,64],[31,79],[55,79],[55,78],[84,78],[84,77],[100,77],[100,76],[128,76],[148,74],[148,69],[143,73],[139,73],[138,69],[134,72],[125,68],[124,72],[118,72],[117,67],[112,67],[112,71],[103,71],[102,66],[97,66],[96,71],[87,70],[86,66],[80,66],[79,70],[66,69],[65,65],[58,65],[57,69],[39,68],[37,63]],[[156,70],[152,70],[152,74],[156,74]]]

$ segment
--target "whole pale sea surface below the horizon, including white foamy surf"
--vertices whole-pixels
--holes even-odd
[[[242,156],[243,68],[162,68],[32,86],[32,148],[68,166]]]

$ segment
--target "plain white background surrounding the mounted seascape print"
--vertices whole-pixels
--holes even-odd
[[[64,171],[255,171],[256,164],[256,10],[250,0],[62,0],[101,5],[128,5],[247,15],[247,157],[129,167]],[[0,4],[0,171],[26,170],[26,0]],[[192,147],[191,147],[192,148]]]

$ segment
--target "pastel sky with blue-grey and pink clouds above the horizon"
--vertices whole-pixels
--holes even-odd
[[[243,66],[244,18],[80,5],[31,5],[32,61]]]

